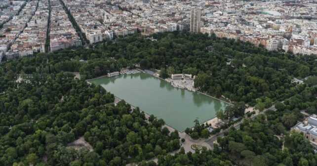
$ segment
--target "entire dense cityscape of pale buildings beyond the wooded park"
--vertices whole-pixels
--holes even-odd
[[[81,42],[101,42],[138,32],[150,35],[184,30],[251,42],[272,51],[317,54],[317,18],[314,18],[317,5],[307,0],[294,10],[290,4],[287,1],[5,0],[1,2],[7,8],[2,9],[0,16],[3,27],[0,57],[31,56],[33,52],[55,51],[79,46]],[[46,36],[50,39],[45,48]]]

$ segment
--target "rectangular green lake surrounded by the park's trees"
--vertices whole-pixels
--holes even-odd
[[[178,131],[193,127],[194,120],[200,123],[214,118],[216,111],[230,105],[199,92],[177,89],[170,83],[145,73],[124,74],[119,78],[98,78],[89,81],[103,86],[127,103]]]

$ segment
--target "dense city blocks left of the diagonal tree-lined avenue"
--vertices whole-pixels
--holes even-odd
[[[8,4],[20,6],[21,9],[24,7],[0,29],[0,62],[4,56],[14,59],[32,56],[34,52],[81,45],[60,0],[9,1]],[[48,38],[49,47],[45,48]]]

